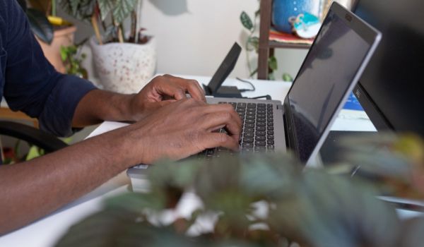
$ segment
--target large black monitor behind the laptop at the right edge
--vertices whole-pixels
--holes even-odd
[[[424,136],[424,1],[358,0],[383,38],[353,90],[377,130]]]

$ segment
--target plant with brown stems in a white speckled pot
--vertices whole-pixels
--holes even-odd
[[[90,47],[100,83],[107,90],[139,92],[155,73],[155,42],[139,28],[138,3],[137,0],[61,0],[65,11],[93,26],[95,37],[90,39]],[[126,18],[131,18],[129,32],[124,30]]]

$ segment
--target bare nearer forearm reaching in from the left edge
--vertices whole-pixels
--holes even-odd
[[[125,132],[90,138],[37,159],[0,166],[0,235],[92,191],[134,164]]]

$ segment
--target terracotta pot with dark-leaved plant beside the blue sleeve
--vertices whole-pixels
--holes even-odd
[[[76,27],[56,16],[56,0],[28,0],[28,8],[25,0],[19,0],[19,4],[27,14],[31,30],[47,60],[57,71],[65,73],[60,47],[73,44]]]

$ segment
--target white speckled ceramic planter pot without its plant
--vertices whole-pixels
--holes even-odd
[[[139,92],[155,73],[155,40],[146,44],[108,43],[90,39],[95,70],[105,90]]]

